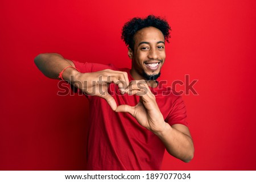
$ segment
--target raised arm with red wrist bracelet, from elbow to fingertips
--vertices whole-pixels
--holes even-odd
[[[35,64],[47,77],[57,79],[59,73],[68,66],[75,67],[72,61],[64,59],[57,53],[42,53],[35,57]],[[129,79],[126,72],[105,69],[92,73],[80,73],[69,67],[63,72],[63,79],[75,85],[82,92],[104,98],[113,110],[117,108],[115,100],[108,94],[108,85],[117,84],[121,93],[125,93]]]

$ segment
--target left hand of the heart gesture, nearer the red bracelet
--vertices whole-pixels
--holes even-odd
[[[117,84],[122,94],[127,92],[129,79],[126,72],[113,71],[112,69],[104,69],[92,73],[77,73],[73,85],[82,90],[82,92],[104,98],[110,107],[115,110],[117,104],[112,96],[108,93],[110,83]]]

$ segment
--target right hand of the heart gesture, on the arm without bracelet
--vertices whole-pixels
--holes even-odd
[[[164,118],[156,103],[155,95],[148,88],[147,82],[144,80],[131,81],[127,93],[140,96],[139,103],[136,106],[120,105],[117,106],[115,111],[130,113],[140,125],[148,130],[154,133],[162,132],[166,126]]]

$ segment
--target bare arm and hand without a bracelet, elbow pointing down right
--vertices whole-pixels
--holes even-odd
[[[164,121],[155,96],[145,81],[133,81],[129,85],[129,94],[137,94],[140,101],[136,106],[120,105],[115,111],[127,112],[137,119],[140,125],[146,127],[162,140],[169,154],[189,162],[193,158],[194,147],[189,130],[184,125],[170,126]]]

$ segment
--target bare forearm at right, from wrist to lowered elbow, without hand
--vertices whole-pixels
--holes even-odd
[[[165,129],[156,135],[162,140],[168,153],[184,162],[192,160],[194,147],[191,137],[171,127],[168,123],[165,124]]]

